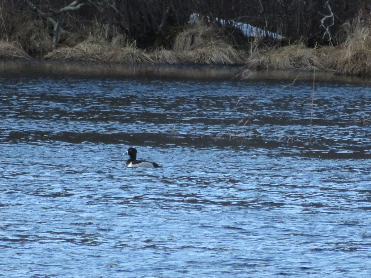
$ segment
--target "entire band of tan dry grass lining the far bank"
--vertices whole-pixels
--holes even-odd
[[[200,20],[175,37],[171,50],[157,48],[147,52],[138,49],[135,41],[122,34],[117,26],[98,21],[89,21],[89,25],[88,21],[82,21],[84,28],[66,32],[59,48],[52,50],[52,36],[47,32],[45,22],[32,19],[26,12],[12,16],[7,12],[12,9],[9,2],[0,1],[0,57],[46,53],[46,59],[55,60],[246,64],[249,69],[327,70],[340,75],[371,76],[371,20],[368,17],[359,16],[344,24],[344,42],[336,47],[310,49],[299,42],[269,49],[261,40],[255,39],[247,53],[233,47],[221,27]],[[74,17],[69,20],[72,19]]]

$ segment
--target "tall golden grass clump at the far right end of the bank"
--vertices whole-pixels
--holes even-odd
[[[347,39],[328,51],[327,66],[341,75],[371,75],[371,21],[361,17],[344,24]]]

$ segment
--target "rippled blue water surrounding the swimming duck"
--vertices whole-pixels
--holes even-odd
[[[0,83],[0,276],[370,276],[369,87]]]

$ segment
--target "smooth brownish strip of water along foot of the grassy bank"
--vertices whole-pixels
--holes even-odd
[[[246,71],[245,71],[246,70]],[[244,72],[245,71],[245,72]],[[0,76],[30,76],[55,78],[99,79],[180,79],[220,81],[287,81],[313,82],[313,71],[251,70],[238,65],[207,64],[126,64],[96,61],[0,59]],[[331,72],[316,71],[315,82],[371,84],[371,78],[341,76]]]

